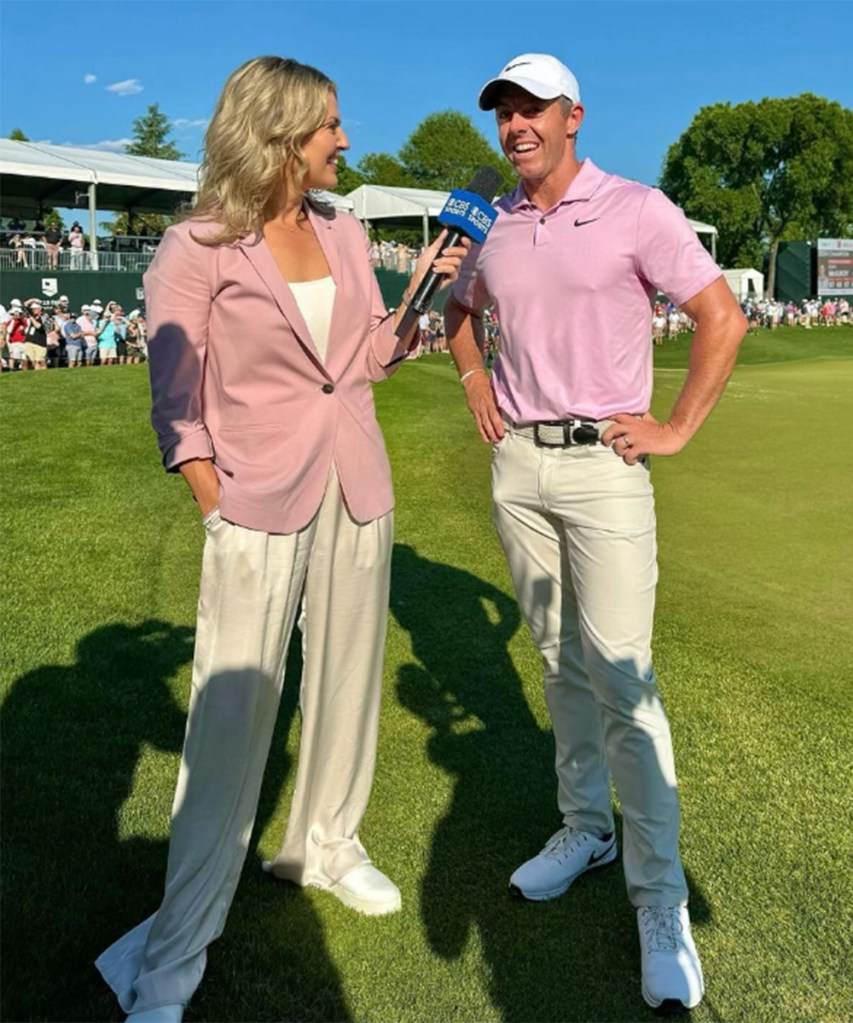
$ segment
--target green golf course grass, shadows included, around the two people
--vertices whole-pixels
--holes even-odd
[[[659,414],[685,352],[656,353]],[[186,1018],[652,1021],[621,865],[552,902],[507,894],[559,820],[490,450],[446,356],[376,394],[397,547],[361,837],[403,911],[359,917],[261,871],[294,783],[294,644],[242,882]],[[654,464],[695,1021],[853,1017],[852,394],[853,329],[758,335],[700,436]],[[92,961],[162,891],[203,530],[147,401],[144,367],[0,377],[4,1020],[119,1019]]]

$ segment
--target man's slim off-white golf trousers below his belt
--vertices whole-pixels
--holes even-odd
[[[492,482],[519,606],[544,662],[564,821],[613,831],[612,774],[632,903],[685,904],[672,740],[652,667],[648,470],[600,444],[544,448],[510,431]]]

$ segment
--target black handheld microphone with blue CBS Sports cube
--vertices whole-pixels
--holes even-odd
[[[437,259],[445,249],[458,246],[463,236],[477,244],[483,244],[497,218],[497,210],[489,203],[499,188],[498,172],[492,167],[481,167],[464,188],[453,189],[439,214],[439,223],[448,228],[448,234]],[[435,270],[428,271],[394,331],[398,338],[405,338],[427,312],[444,276]]]

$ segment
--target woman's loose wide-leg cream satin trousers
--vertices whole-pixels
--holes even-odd
[[[274,873],[327,888],[369,862],[358,839],[375,762],[393,514],[363,525],[334,471],[314,520],[278,535],[214,513],[186,737],[158,911],[96,966],[126,1012],[185,1005],[222,933],[252,834],[284,661],[304,601],[302,738]]]

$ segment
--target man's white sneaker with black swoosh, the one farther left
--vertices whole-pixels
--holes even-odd
[[[538,856],[522,863],[509,879],[509,887],[534,902],[556,898],[576,878],[615,859],[613,834],[597,838],[567,826],[551,835]]]

